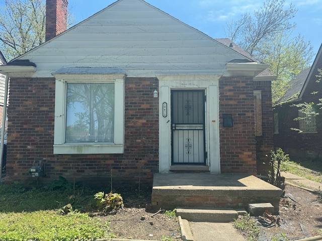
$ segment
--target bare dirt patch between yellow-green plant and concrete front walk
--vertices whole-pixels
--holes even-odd
[[[181,240],[178,218],[165,215],[165,210],[152,211],[150,190],[116,190],[124,199],[124,208],[113,215],[97,215],[110,221],[116,238],[144,240]],[[138,194],[139,193],[139,194]],[[171,239],[166,239],[171,237]]]

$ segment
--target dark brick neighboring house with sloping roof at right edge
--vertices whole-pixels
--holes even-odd
[[[318,81],[318,69],[322,69],[322,45],[313,65],[290,82],[289,90],[274,108],[274,147],[293,157],[322,158],[322,106],[317,105],[322,98],[322,82]],[[304,102],[313,102],[319,115],[306,115],[293,106]],[[294,120],[297,117],[301,119]]]

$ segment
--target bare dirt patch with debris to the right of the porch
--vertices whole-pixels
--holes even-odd
[[[280,199],[279,225],[261,227],[259,240],[286,236],[290,240],[321,235],[322,203],[318,194],[286,185],[285,195]],[[284,240],[284,239],[281,239]]]

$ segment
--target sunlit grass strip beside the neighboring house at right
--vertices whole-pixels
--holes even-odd
[[[281,170],[322,183],[322,162],[288,161],[281,164]]]

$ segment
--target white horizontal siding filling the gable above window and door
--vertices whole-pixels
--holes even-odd
[[[120,0],[23,55],[37,77],[62,67],[111,67],[127,76],[221,74],[238,53],[141,0]]]

